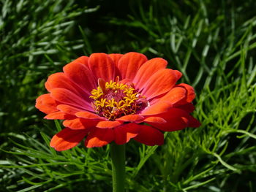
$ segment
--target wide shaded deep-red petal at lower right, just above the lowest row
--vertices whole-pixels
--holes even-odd
[[[157,115],[166,123],[148,123],[162,131],[177,131],[189,126],[189,114],[184,110],[172,108],[168,112]]]

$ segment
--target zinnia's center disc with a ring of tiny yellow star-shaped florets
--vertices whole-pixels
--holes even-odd
[[[140,112],[148,106],[145,96],[135,91],[134,85],[126,85],[110,80],[105,82],[99,79],[99,86],[91,91],[91,99],[94,99],[95,112],[108,120],[115,120],[124,115]]]

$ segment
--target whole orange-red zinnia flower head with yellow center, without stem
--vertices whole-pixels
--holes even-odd
[[[86,147],[130,139],[162,145],[163,131],[200,126],[189,115],[195,110],[194,89],[176,85],[181,72],[166,66],[164,59],[140,53],[94,53],[51,74],[45,82],[50,93],[39,96],[36,107],[46,119],[64,120],[65,128],[50,146],[68,150],[84,137]]]

